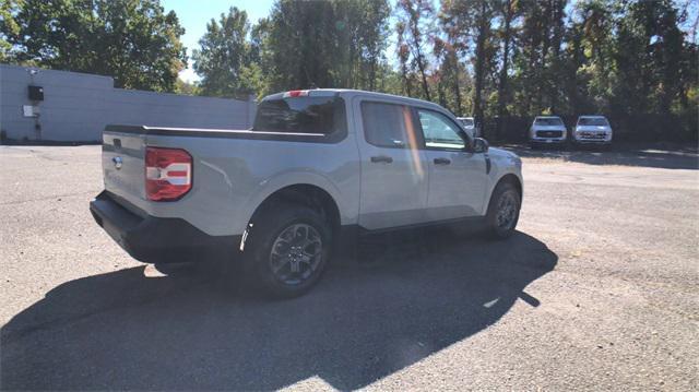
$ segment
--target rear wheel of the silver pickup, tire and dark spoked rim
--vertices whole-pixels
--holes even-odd
[[[310,289],[330,257],[331,229],[307,206],[285,202],[254,219],[246,247],[246,272],[274,297],[291,298]]]

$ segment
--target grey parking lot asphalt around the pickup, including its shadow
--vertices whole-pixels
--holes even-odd
[[[518,152],[512,238],[377,238],[271,301],[131,260],[98,146],[0,146],[0,387],[698,390],[697,152]]]

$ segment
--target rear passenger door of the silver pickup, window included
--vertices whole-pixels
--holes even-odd
[[[359,225],[380,229],[425,222],[428,173],[411,108],[363,98],[353,105],[362,158]]]

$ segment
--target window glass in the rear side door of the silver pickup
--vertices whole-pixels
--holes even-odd
[[[405,106],[363,102],[362,121],[369,144],[393,149],[415,145],[413,118]]]

